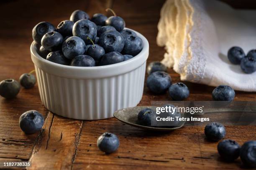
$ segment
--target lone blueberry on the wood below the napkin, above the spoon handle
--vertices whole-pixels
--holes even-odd
[[[227,85],[220,85],[212,91],[212,98],[216,101],[232,101],[235,95],[233,88]]]

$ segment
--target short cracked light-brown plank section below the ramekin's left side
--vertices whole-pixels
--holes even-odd
[[[67,119],[50,112],[33,148],[32,167],[28,169],[71,169],[82,124],[82,120]]]

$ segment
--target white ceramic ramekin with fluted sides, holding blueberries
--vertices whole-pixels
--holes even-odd
[[[130,60],[97,67],[60,65],[43,59],[31,44],[40,97],[51,112],[64,117],[97,120],[113,117],[113,112],[136,106],[143,94],[149,45]]]

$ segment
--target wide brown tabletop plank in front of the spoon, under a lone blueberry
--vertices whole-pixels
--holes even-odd
[[[255,137],[256,127],[227,126],[225,139],[243,144]],[[118,135],[117,152],[106,155],[97,148],[104,132]],[[114,118],[86,121],[82,127],[73,169],[237,169],[241,165],[219,160],[218,142],[205,139],[204,127],[181,128],[169,133],[149,132],[125,125]]]

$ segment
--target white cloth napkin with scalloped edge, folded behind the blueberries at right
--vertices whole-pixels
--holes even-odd
[[[256,49],[256,11],[235,10],[217,0],[166,0],[161,9],[157,44],[162,63],[181,80],[235,90],[256,91],[256,72],[243,73],[229,62],[230,47]]]

